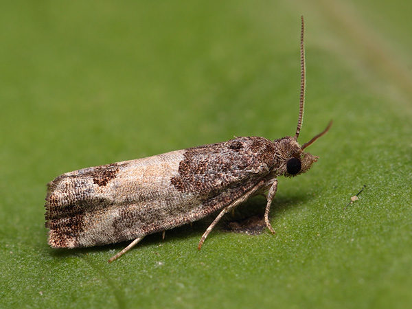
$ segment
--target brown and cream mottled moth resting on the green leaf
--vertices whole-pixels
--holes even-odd
[[[198,249],[224,214],[256,194],[267,193],[264,220],[277,190],[277,177],[309,170],[318,157],[304,149],[324,135],[332,122],[300,146],[304,115],[304,19],[301,18],[301,89],[294,137],[271,141],[236,137],[229,141],[177,150],[153,157],[84,168],[48,184],[46,227],[54,248],[92,247],[133,240],[194,222],[216,211]]]

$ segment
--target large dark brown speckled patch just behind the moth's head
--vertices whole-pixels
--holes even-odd
[[[209,197],[254,175],[268,174],[275,163],[273,143],[263,137],[238,137],[225,143],[185,150],[179,176],[171,183],[183,193]]]

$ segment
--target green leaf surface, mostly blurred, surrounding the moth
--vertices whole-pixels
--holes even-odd
[[[0,307],[410,306],[411,12],[403,0],[3,1]],[[45,185],[58,174],[293,135],[301,14],[299,141],[334,126],[308,148],[321,157],[310,172],[279,179],[276,236],[220,227],[198,251],[196,222],[113,264],[125,243],[48,247]]]

